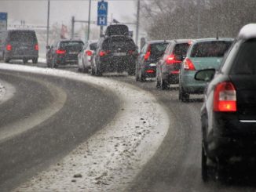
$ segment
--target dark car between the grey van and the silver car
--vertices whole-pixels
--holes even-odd
[[[78,54],[82,50],[83,42],[79,40],[60,40],[52,46],[47,46],[47,67],[78,64]]]

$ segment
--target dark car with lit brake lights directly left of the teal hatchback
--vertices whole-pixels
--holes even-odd
[[[187,55],[192,40],[177,39],[170,42],[163,56],[156,63],[156,87],[166,89],[179,82],[181,62]]]

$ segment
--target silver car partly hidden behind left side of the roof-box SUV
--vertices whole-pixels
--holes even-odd
[[[88,73],[91,69],[91,59],[93,52],[96,51],[97,41],[86,42],[82,51],[78,55],[78,71]]]

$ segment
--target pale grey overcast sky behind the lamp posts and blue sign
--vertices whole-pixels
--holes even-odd
[[[133,22],[136,18],[136,2],[108,1],[108,21],[111,16],[122,22]],[[97,20],[97,1],[92,1],[91,20]],[[71,16],[76,20],[88,20],[89,0],[51,0],[50,24],[71,25]],[[0,0],[0,12],[7,12],[9,24],[46,25],[47,0]]]

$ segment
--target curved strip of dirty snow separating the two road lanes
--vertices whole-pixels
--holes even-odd
[[[1,64],[0,69],[70,78],[110,89],[122,101],[118,114],[68,156],[14,191],[120,191],[155,154],[169,128],[166,110],[149,92],[108,78]]]

